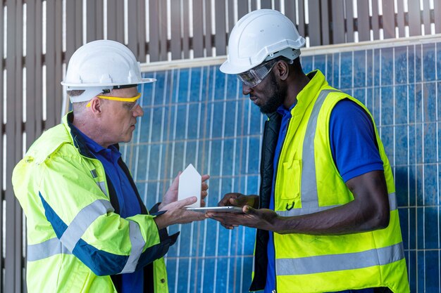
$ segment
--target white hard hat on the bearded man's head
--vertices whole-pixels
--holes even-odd
[[[279,11],[252,11],[233,27],[228,40],[228,59],[220,70],[238,74],[278,56],[294,60],[304,44],[305,39],[294,23]]]

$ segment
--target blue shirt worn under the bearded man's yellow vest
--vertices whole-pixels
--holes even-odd
[[[270,209],[274,209],[274,183],[278,167],[280,150],[291,118],[291,110],[280,106],[277,112],[282,115],[280,132],[274,155],[273,190],[271,192]],[[330,115],[330,143],[331,151],[337,169],[344,182],[370,171],[383,170],[383,161],[375,141],[375,131],[371,118],[367,113],[352,102],[341,100]],[[351,139],[347,139],[351,138]],[[272,293],[275,289],[275,251],[273,232],[269,231],[268,239],[268,269],[266,273],[265,293]],[[373,289],[346,290],[340,293],[373,293]]]

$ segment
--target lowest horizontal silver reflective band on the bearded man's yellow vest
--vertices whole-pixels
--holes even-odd
[[[278,275],[303,275],[383,266],[404,259],[403,242],[388,247],[348,254],[328,254],[299,259],[276,259]]]

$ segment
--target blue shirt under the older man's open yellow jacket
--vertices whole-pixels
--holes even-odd
[[[141,214],[141,207],[139,207],[139,201],[137,199],[135,190],[133,190],[128,177],[118,164],[118,159],[120,159],[121,153],[118,151],[115,145],[110,145],[108,148],[103,148],[101,145],[83,134],[79,129],[78,133],[80,133],[82,138],[84,138],[87,148],[90,152],[92,152],[92,155],[99,159],[99,162],[103,164],[104,171],[106,172],[108,179],[111,181],[113,188],[115,188],[116,196],[118,197],[120,216],[122,218],[127,218],[129,216]],[[121,274],[121,292],[141,293],[143,292],[143,288],[143,270]]]

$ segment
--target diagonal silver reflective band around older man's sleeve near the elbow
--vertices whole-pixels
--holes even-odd
[[[99,216],[107,214],[108,211],[113,211],[113,207],[108,200],[95,200],[87,207],[84,207],[78,212],[63,235],[61,235],[61,243],[72,252],[87,228],[89,228]]]

